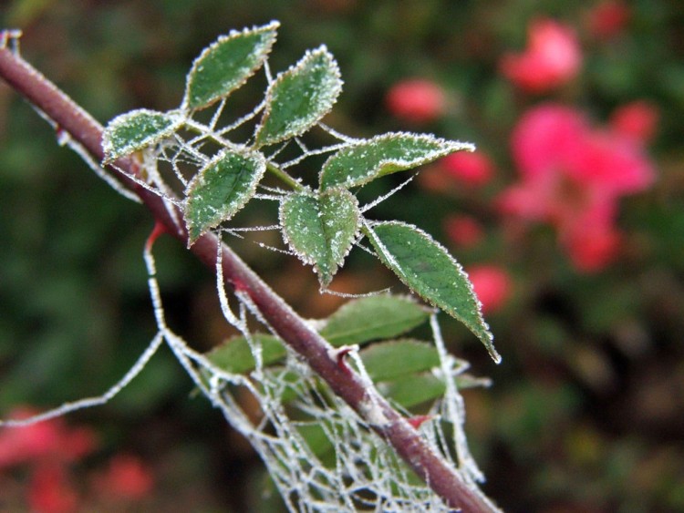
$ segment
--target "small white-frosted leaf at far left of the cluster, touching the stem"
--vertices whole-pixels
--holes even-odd
[[[182,124],[178,113],[140,108],[109,121],[102,135],[105,162],[130,155],[169,137]]]

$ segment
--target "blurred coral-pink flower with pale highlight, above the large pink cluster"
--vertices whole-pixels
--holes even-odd
[[[523,54],[506,54],[501,72],[518,87],[542,93],[574,78],[582,64],[575,31],[550,19],[538,19],[528,29]]]

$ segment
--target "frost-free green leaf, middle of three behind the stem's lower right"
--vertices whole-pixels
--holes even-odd
[[[434,345],[413,339],[372,344],[358,355],[374,382],[395,380],[440,365]]]

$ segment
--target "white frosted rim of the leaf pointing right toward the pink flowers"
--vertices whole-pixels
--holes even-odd
[[[378,136],[375,136],[371,139],[360,139],[358,142],[352,143],[349,146],[340,149],[337,151],[337,153],[331,155],[326,159],[326,161],[323,163],[323,166],[321,168],[320,174],[319,174],[319,188],[320,190],[327,190],[327,187],[324,189],[323,186],[323,180],[324,180],[324,175],[326,172],[326,168],[329,166],[330,162],[333,162],[336,158],[337,155],[341,152],[344,152],[346,150],[350,149],[356,149],[358,147],[362,146],[369,146],[374,142],[378,142],[380,140],[385,140],[385,139],[399,139],[400,137],[405,137],[409,136],[413,139],[420,139],[420,140],[426,140],[430,142],[436,142],[439,143],[440,145],[444,145],[444,149],[440,149],[434,152],[433,157],[426,157],[424,159],[418,159],[418,160],[405,160],[405,159],[382,159],[378,162],[378,165],[374,169],[368,169],[368,173],[365,175],[364,178],[360,180],[345,180],[343,182],[335,183],[332,187],[358,187],[361,185],[364,185],[368,183],[369,181],[375,180],[377,178],[380,178],[379,171],[384,168],[387,165],[398,165],[401,167],[405,167],[406,169],[403,170],[408,170],[408,169],[414,169],[419,166],[422,166],[423,164],[427,164],[428,162],[431,162],[435,159],[440,159],[441,157],[446,157],[450,153],[454,153],[456,151],[475,151],[475,145],[473,145],[470,142],[461,142],[459,140],[450,140],[450,139],[442,139],[442,138],[437,138],[431,134],[419,134],[419,133],[414,133],[414,132],[388,132],[386,134],[380,134]]]

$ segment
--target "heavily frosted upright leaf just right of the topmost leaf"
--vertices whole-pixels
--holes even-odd
[[[337,62],[326,47],[306,52],[268,88],[255,145],[261,147],[303,134],[330,111],[341,90]]]

